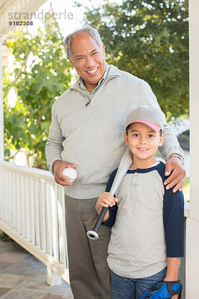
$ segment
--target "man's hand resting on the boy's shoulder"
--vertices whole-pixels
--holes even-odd
[[[167,190],[175,186],[173,189],[174,193],[178,190],[182,191],[186,172],[183,163],[178,157],[173,156],[166,161],[165,175],[169,176],[164,181],[164,185],[167,185]]]

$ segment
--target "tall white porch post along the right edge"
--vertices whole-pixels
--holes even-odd
[[[186,299],[199,298],[199,0],[190,0],[190,172]]]

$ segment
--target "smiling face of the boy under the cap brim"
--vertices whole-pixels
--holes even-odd
[[[142,123],[133,123],[128,128],[128,135],[124,140],[133,153],[133,159],[146,159],[152,162],[158,147],[163,145],[164,135],[160,137],[159,131],[154,131]]]

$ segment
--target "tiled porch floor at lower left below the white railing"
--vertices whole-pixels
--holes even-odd
[[[0,241],[0,299],[73,299],[70,286],[50,287],[46,267],[18,244]]]

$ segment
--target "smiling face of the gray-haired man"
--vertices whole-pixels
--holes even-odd
[[[105,47],[101,48],[90,34],[83,31],[72,38],[71,51],[69,60],[91,92],[105,71]]]

